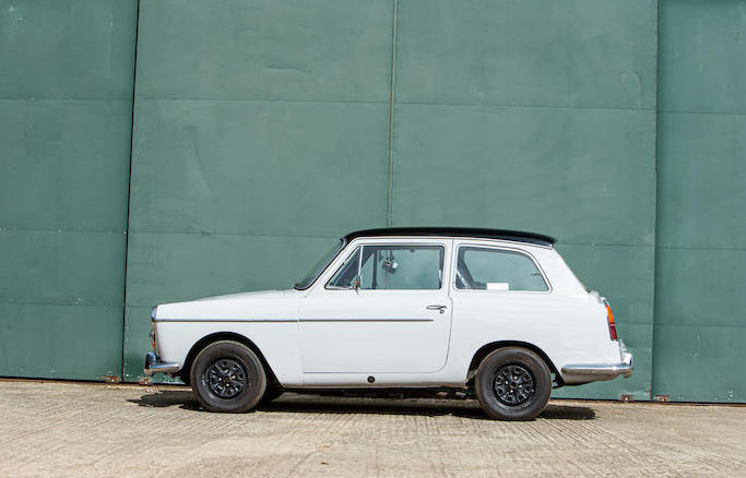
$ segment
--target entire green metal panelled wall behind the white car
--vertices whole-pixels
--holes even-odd
[[[356,228],[478,225],[557,236],[615,306],[636,374],[555,396],[746,401],[746,2],[22,4],[0,374],[137,381],[157,302],[287,287]],[[45,94],[67,109],[29,116]]]

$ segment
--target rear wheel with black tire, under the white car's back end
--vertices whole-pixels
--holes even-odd
[[[552,395],[552,375],[544,360],[519,347],[499,348],[482,360],[474,380],[484,411],[498,420],[532,420]]]

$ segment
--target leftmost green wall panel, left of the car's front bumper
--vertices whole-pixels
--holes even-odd
[[[135,19],[0,0],[0,375],[121,374]]]

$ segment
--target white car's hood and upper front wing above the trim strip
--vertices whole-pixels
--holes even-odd
[[[162,303],[156,321],[297,320],[300,290],[260,290]]]

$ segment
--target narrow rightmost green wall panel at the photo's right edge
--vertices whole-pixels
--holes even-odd
[[[746,1],[661,1],[653,393],[746,402]]]

